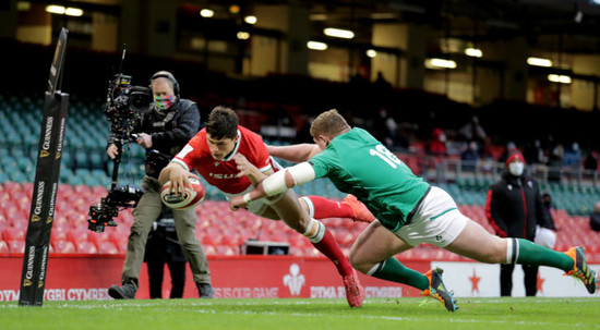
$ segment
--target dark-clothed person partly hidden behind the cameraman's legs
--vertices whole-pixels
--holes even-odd
[[[171,274],[171,293],[169,297],[183,297],[188,260],[185,260],[181,244],[177,239],[172,210],[168,207],[163,208],[160,218],[154,222],[148,233],[144,261],[148,267],[151,298],[163,298],[165,265],[168,266]]]

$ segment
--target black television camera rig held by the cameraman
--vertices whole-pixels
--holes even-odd
[[[123,50],[124,58],[124,50]],[[120,71],[120,70],[119,70]],[[115,145],[119,150],[112,160],[112,180],[108,195],[101,198],[98,205],[89,207],[87,213],[87,229],[101,233],[105,228],[116,227],[115,217],[125,208],[134,208],[142,197],[142,190],[129,185],[118,185],[119,163],[121,162],[121,150],[127,144],[134,143],[137,138],[133,133],[142,119],[144,111],[148,109],[152,93],[148,87],[132,86],[131,76],[118,73],[109,82],[107,103],[103,110],[110,122],[110,132],[115,137]]]

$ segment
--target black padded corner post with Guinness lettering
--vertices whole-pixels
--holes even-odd
[[[23,256],[20,306],[41,306],[44,303],[50,231],[53,223],[67,108],[69,106],[69,95],[59,90],[64,49],[67,47],[67,33],[65,28],[60,33],[52,65],[50,66],[48,91],[45,94],[39,151],[29,224],[27,225],[27,237],[25,239],[25,255]]]

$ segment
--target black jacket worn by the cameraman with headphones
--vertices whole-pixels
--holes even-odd
[[[177,99],[164,113],[158,112],[154,103],[151,103],[148,111],[142,115],[133,130],[134,133],[152,135],[152,148],[146,149],[146,174],[158,178],[160,170],[188,144],[200,127],[200,110],[191,100]],[[111,136],[109,144],[113,140],[115,136]]]

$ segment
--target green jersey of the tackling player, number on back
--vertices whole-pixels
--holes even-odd
[[[361,129],[336,136],[310,159],[316,178],[328,178],[355,195],[380,222],[397,231],[410,219],[429,184],[371,134]]]

